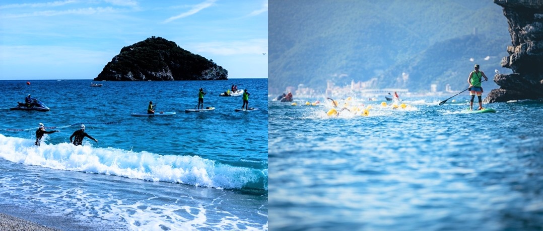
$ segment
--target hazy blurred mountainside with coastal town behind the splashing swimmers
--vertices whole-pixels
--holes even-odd
[[[411,92],[468,87],[473,65],[498,88],[494,70],[511,44],[493,1],[270,1],[269,91],[305,84],[318,91],[365,82]],[[488,89],[488,90],[487,90]]]

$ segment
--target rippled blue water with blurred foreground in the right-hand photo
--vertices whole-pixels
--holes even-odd
[[[270,230],[543,230],[543,102],[444,98],[270,99]]]

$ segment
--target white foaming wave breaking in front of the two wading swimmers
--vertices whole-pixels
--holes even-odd
[[[117,175],[131,179],[185,183],[211,188],[243,188],[261,178],[261,171],[229,166],[199,156],[159,155],[116,148],[34,145],[34,140],[0,134],[0,157],[52,169]]]

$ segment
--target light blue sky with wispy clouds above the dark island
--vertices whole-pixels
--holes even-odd
[[[92,79],[151,36],[229,78],[268,77],[267,0],[59,0],[0,1],[0,80]]]

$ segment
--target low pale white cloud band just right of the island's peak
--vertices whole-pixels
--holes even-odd
[[[189,45],[195,53],[210,53],[214,55],[247,55],[262,56],[268,51],[268,39],[251,39],[248,41],[208,42]]]

